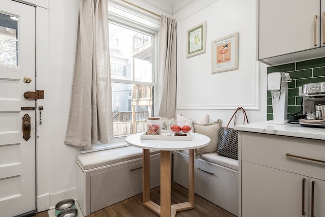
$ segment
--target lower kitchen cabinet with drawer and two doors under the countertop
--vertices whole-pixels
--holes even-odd
[[[325,164],[286,155],[323,161],[323,140],[240,131],[239,145],[239,216],[325,216]]]

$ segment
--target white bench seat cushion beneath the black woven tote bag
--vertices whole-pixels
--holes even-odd
[[[188,150],[180,152],[188,154]],[[217,152],[204,153],[199,158],[238,171],[238,160],[221,156]]]

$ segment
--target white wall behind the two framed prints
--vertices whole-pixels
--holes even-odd
[[[250,122],[265,121],[266,66],[255,60],[255,0],[197,0],[173,17],[178,20],[177,113],[192,120],[209,114],[210,121],[220,118],[226,126],[242,106]],[[203,21],[206,53],[186,58],[187,29]],[[239,69],[212,74],[211,42],[236,32]]]

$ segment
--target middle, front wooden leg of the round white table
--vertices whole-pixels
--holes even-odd
[[[160,151],[160,217],[171,216],[171,151]]]

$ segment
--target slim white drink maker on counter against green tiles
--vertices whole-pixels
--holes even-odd
[[[285,125],[288,105],[288,83],[291,82],[289,73],[272,72],[268,74],[268,90],[272,96],[273,120],[267,123]]]

